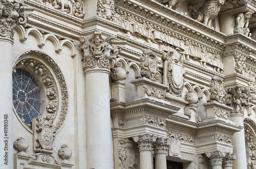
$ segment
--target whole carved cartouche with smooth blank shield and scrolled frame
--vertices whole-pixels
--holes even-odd
[[[182,66],[182,56],[177,51],[169,51],[162,56],[163,85],[169,87],[169,93],[180,96],[184,88],[185,70]]]

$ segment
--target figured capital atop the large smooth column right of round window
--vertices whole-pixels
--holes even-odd
[[[83,51],[83,69],[86,71],[89,68],[110,68],[110,59],[115,59],[121,51],[119,46],[114,47],[115,37],[110,36],[104,40],[101,37],[101,32],[95,32],[93,37],[79,37],[80,50]]]

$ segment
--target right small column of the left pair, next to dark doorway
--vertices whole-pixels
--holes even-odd
[[[167,138],[157,138],[155,143],[155,168],[166,169],[166,155],[168,150]]]

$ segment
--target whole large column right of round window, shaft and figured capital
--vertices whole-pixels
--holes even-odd
[[[113,168],[109,58],[114,37],[103,41],[101,32],[94,32],[89,39],[91,46],[86,37],[79,38],[86,75],[87,168]]]

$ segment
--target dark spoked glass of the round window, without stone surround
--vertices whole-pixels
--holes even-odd
[[[32,118],[40,116],[40,88],[34,77],[23,69],[16,69],[12,75],[13,106],[25,123],[30,124]]]

